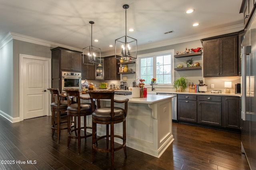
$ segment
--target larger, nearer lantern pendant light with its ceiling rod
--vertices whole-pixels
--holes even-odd
[[[124,61],[137,59],[137,39],[127,36],[126,32],[126,10],[129,5],[123,5],[125,9],[125,36],[115,40],[115,57]]]

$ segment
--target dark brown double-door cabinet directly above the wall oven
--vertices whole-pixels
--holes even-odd
[[[58,60],[60,70],[81,72],[82,53],[57,47],[52,50],[52,59]]]

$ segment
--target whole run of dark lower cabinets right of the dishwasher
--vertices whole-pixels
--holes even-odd
[[[216,127],[240,129],[240,97],[178,94],[178,121]]]

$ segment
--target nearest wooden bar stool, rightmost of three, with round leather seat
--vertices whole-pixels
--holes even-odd
[[[92,106],[92,163],[94,162],[95,151],[99,152],[110,152],[111,153],[111,167],[114,169],[114,151],[124,149],[125,158],[127,158],[126,153],[126,115],[128,109],[128,101],[126,100],[114,100],[114,90],[90,90],[91,102],[97,101],[98,108]],[[110,99],[110,107],[100,107],[100,99]],[[124,109],[120,107],[114,107],[114,102],[124,103]],[[123,135],[114,135],[114,124],[123,123]],[[97,123],[106,125],[106,135],[97,138]],[[110,135],[109,135],[109,125],[110,125]],[[108,149],[110,137],[110,149]],[[114,147],[114,138],[120,138],[123,143],[119,147]],[[106,149],[98,147],[97,141],[106,138]]]

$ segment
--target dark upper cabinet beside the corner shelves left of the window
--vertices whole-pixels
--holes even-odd
[[[105,80],[120,80],[118,74],[118,59],[115,56],[104,57],[104,76]]]

